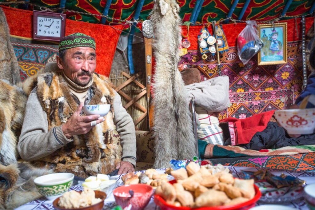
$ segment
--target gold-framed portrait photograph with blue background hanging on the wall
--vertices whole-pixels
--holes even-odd
[[[258,65],[287,63],[287,23],[260,24],[257,30],[264,43],[258,52]]]

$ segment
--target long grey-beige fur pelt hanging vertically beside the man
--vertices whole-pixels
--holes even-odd
[[[155,0],[151,14],[156,59],[153,84],[155,168],[169,167],[172,159],[196,156],[192,120],[177,65],[181,39],[178,12],[175,0]]]

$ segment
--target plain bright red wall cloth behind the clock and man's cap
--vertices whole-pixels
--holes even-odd
[[[32,37],[33,12],[1,6],[10,29],[10,35],[19,37]],[[83,32],[95,38],[96,42],[96,72],[109,76],[114,59],[117,42],[122,26],[106,26],[102,24],[91,24],[82,21],[66,20],[66,35]],[[119,29],[119,30],[116,30]],[[43,44],[45,44],[43,42]]]

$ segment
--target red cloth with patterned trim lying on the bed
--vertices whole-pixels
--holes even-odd
[[[275,110],[266,111],[245,119],[228,117],[221,122],[227,122],[230,131],[231,145],[248,144],[255,133],[263,131]]]

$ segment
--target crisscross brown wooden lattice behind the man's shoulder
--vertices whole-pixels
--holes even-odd
[[[139,103],[137,103],[137,100],[139,100],[142,96],[146,96],[146,87],[136,80],[139,77],[139,74],[135,74],[134,76],[130,76],[126,72],[122,72],[122,75],[124,77],[126,77],[127,80],[125,82],[123,82],[121,85],[119,85],[118,87],[113,85],[113,88],[115,89],[115,91],[117,93],[119,93],[122,97],[124,97],[128,101],[128,103],[126,105],[124,105],[125,109],[127,109],[131,105],[134,105],[137,108],[139,108],[141,111],[143,111],[143,114],[134,122],[135,126],[136,126],[148,114],[147,109],[145,107],[143,107],[142,105],[140,105]],[[138,85],[141,88],[141,92],[135,98],[131,98],[129,95],[124,93],[122,90],[124,87],[129,85],[131,82],[134,82],[136,85]]]

